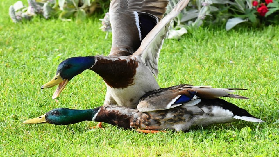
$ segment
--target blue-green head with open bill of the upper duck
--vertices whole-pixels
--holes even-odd
[[[41,89],[51,88],[57,84],[58,88],[54,92],[52,99],[59,96],[67,83],[84,70],[90,69],[95,64],[95,57],[72,57],[64,60],[58,65],[56,75],[48,83],[42,85]]]

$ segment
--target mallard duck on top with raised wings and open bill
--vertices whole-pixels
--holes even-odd
[[[158,74],[157,63],[163,39],[169,22],[188,2],[180,0],[161,19],[167,0],[112,1],[109,13],[113,39],[109,56],[68,58],[58,65],[56,76],[41,88],[59,84],[52,97],[55,99],[74,76],[89,69],[105,81],[104,105],[135,108],[146,92],[159,88],[154,75]]]

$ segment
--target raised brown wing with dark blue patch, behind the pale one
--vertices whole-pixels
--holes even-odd
[[[167,0],[112,0],[109,11],[112,48],[109,55],[133,54],[162,19],[167,4]]]

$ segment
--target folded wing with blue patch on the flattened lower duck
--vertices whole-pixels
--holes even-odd
[[[149,96],[143,97],[137,105],[140,112],[166,110],[180,105],[193,106],[201,102],[201,99],[215,99],[219,97],[232,97],[248,99],[247,97],[230,94],[234,89],[240,88],[211,88],[209,86],[179,85],[170,88],[154,90]]]

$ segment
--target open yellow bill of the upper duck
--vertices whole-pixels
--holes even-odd
[[[60,76],[60,73],[58,73],[56,76],[53,77],[53,79],[51,79],[51,81],[42,85],[41,89],[51,88],[51,87],[59,84],[56,91],[54,92],[54,94],[52,96],[52,99],[55,99],[59,96],[59,94],[62,92],[62,90],[66,87],[68,82],[69,82],[68,79],[62,79],[62,77]]]

